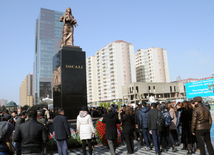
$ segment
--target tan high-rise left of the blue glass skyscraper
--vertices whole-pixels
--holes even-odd
[[[20,106],[33,106],[33,75],[28,74],[19,88]]]

